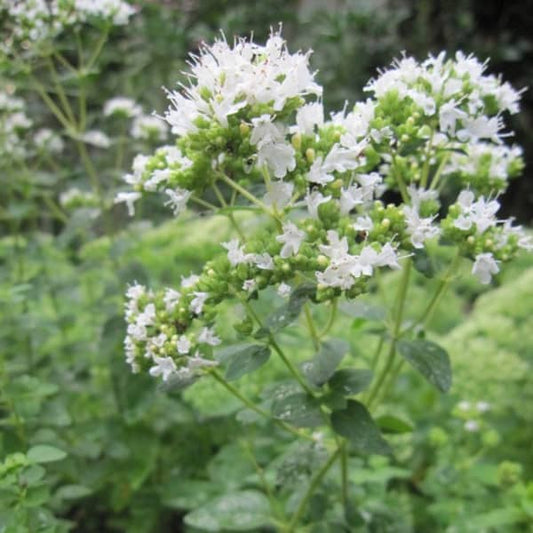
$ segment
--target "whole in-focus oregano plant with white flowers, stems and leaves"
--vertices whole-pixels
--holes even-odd
[[[262,492],[220,494],[213,531],[313,523],[310,504],[337,463],[344,527],[364,520],[354,518],[349,458],[394,453],[382,431],[411,430],[392,415],[376,417],[395,380],[418,372],[440,392],[452,386],[449,356],[426,331],[448,286],[461,275],[490,284],[533,248],[498,216],[499,196],[523,167],[520,148],[506,143],[519,91],[471,55],[402,56],[366,85],[366,100],[326,117],[309,57],[290,53],[276,31],[265,45],[224,36],[203,45],[188,82],[168,92],[163,118],[175,142],[138,155],[129,189],[117,196],[133,212],[144,194],[161,193],[176,217],[191,206],[226,217],[234,231],[201,271],[172,287],[132,280],[132,371],[167,387],[215,380],[252,423],[265,419],[320,452],[304,490],[281,511],[268,479]],[[435,268],[437,255],[444,268]],[[418,320],[407,321],[415,270],[433,288]],[[383,290],[391,271],[399,281],[390,308],[361,298]],[[220,323],[228,309],[231,331]],[[340,314],[379,324],[375,353],[359,364],[347,357],[357,328],[331,335]],[[288,326],[305,328],[305,361],[292,357]],[[245,395],[239,379],[274,358],[287,381]],[[186,520],[216,522],[209,507]]]

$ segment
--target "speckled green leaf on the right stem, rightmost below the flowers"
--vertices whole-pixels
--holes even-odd
[[[441,392],[452,386],[450,357],[444,348],[424,339],[400,340],[398,351]]]

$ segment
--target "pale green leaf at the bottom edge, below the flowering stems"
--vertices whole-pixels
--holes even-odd
[[[270,506],[262,493],[243,490],[208,502],[184,520],[203,531],[257,531],[270,524]]]

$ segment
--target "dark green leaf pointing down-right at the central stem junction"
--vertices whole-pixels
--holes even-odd
[[[333,411],[331,424],[358,451],[383,455],[390,452],[370,413],[356,400],[348,400],[348,406],[342,411]]]

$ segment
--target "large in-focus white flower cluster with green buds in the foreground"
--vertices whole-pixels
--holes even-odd
[[[473,57],[404,57],[368,84],[372,98],[328,120],[308,58],[290,54],[276,32],[265,46],[222,39],[201,48],[189,84],[169,93],[176,143],[138,155],[117,201],[133,213],[143,193],[158,192],[176,216],[195,201],[213,212],[245,206],[267,221],[254,235],[240,230],[176,289],[130,289],[134,370],[166,380],[214,364],[201,332],[230,298],[271,286],[294,295],[302,279],[315,302],[355,298],[377,270],[401,268],[439,238],[488,283],[501,262],[531,248],[512,221],[496,218],[497,194],[521,167],[502,134],[519,93]],[[477,154],[470,166],[460,159],[468,154]],[[446,183],[446,194],[458,194],[447,210]],[[385,193],[401,202],[385,203]]]

